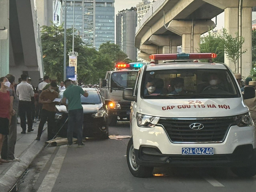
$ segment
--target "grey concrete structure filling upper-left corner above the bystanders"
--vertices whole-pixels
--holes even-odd
[[[0,77],[11,73],[16,83],[27,73],[37,85],[43,76],[40,26],[34,0],[1,0]]]

